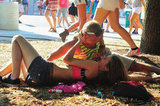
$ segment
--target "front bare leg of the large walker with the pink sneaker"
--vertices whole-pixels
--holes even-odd
[[[117,32],[130,45],[131,48],[136,48],[137,46],[132,40],[129,33],[119,24],[119,9],[118,8],[116,8],[114,12],[111,12],[109,14],[108,19],[109,19],[111,28],[115,32]]]

